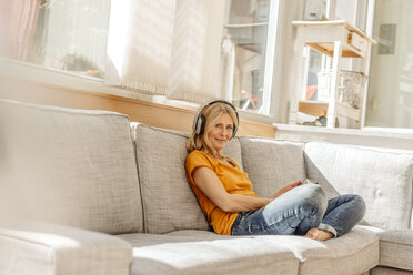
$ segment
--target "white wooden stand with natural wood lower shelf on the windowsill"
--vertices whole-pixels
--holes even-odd
[[[292,24],[298,29],[296,49],[302,51],[304,45],[309,45],[312,49],[332,58],[331,63],[331,80],[329,91],[329,102],[318,101],[302,101],[303,99],[303,84],[299,78],[299,81],[294,83],[294,108],[292,109],[292,122],[294,122],[294,112],[303,112],[311,115],[324,115],[328,119],[326,126],[334,128],[336,116],[345,116],[355,120],[359,125],[362,124],[362,110],[354,109],[347,104],[339,101],[339,78],[340,78],[340,61],[342,58],[359,58],[362,59],[362,72],[365,72],[365,68],[371,45],[376,43],[375,40],[369,38],[360,29],[349,24],[344,20],[335,21],[293,21]],[[302,67],[302,54],[298,52],[299,58],[295,58],[295,67],[301,72]],[[364,93],[361,94],[364,100]],[[295,103],[298,103],[295,105]],[[361,104],[363,105],[363,103]]]

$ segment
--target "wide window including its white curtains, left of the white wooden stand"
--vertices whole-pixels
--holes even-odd
[[[252,111],[252,118],[259,118],[258,113],[268,119],[280,1],[177,3],[169,0],[7,1],[6,9],[0,9],[0,29],[12,35],[3,35],[1,30],[0,40],[10,40],[4,43],[8,49],[0,44],[0,57],[101,78],[104,85],[141,94],[199,103],[224,98],[240,109]],[[113,7],[123,11],[120,19],[111,14]],[[147,9],[154,14],[145,12]],[[109,17],[112,17],[110,34]],[[153,29],[147,28],[145,21]],[[113,30],[121,35],[112,39]],[[149,30],[154,39],[149,41],[142,30]],[[142,40],[137,37],[144,38],[144,43],[139,43]],[[120,42],[115,43],[120,47],[111,47],[112,40]],[[21,47],[13,52],[13,44]],[[151,65],[154,63],[147,50],[157,53],[161,48],[165,54],[155,54],[154,60],[165,68],[165,73],[142,67],[145,59]],[[112,57],[119,59],[107,59],[113,52]],[[135,73],[135,69],[142,73]],[[162,84],[152,89],[158,78]]]

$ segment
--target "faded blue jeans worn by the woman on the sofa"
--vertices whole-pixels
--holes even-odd
[[[321,228],[341,236],[354,227],[365,214],[357,195],[326,200],[323,189],[304,184],[290,190],[258,211],[240,212],[232,235],[305,235]]]

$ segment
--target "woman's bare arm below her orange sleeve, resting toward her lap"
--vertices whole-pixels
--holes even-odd
[[[192,177],[197,186],[208,196],[208,198],[224,212],[259,210],[273,200],[230,194],[225,191],[216,174],[208,167],[195,169],[192,173]]]

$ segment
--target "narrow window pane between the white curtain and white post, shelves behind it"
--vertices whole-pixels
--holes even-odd
[[[269,114],[278,2],[226,1],[222,88],[232,103],[242,110]]]

